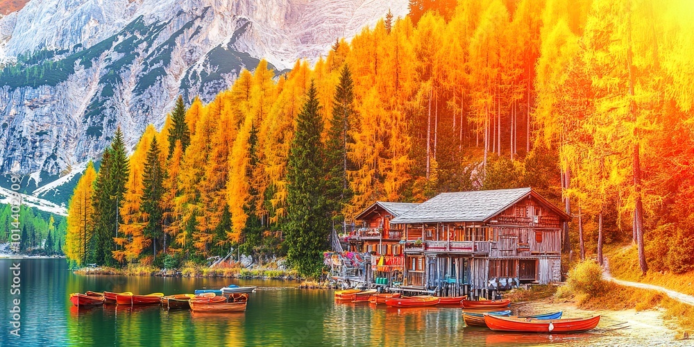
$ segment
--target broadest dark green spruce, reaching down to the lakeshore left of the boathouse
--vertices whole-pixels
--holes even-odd
[[[330,215],[325,197],[325,149],[321,143],[323,121],[316,87],[311,83],[307,100],[296,119],[287,165],[287,259],[301,273],[319,276],[323,251],[328,248]]]

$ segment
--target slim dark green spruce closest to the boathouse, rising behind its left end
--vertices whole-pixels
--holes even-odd
[[[347,177],[347,171],[354,169],[354,164],[347,158],[347,144],[353,142],[349,134],[354,115],[352,75],[349,67],[345,65],[340,74],[340,83],[335,91],[328,142],[325,144],[328,203],[333,221],[337,225],[344,220],[341,211],[354,195]]]

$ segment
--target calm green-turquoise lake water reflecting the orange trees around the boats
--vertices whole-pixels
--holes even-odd
[[[466,328],[456,307],[335,303],[332,291],[298,289],[291,281],[76,276],[62,259],[20,260],[21,295],[13,296],[11,262],[0,260],[1,346],[513,346],[590,339]],[[68,300],[70,293],[87,290],[177,294],[229,284],[258,286],[246,312],[192,314],[115,305],[77,310]],[[10,335],[14,298],[21,300],[19,338]]]

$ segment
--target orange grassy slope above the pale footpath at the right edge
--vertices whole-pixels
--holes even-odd
[[[668,271],[648,271],[646,276],[641,276],[636,245],[611,247],[607,249],[605,255],[609,262],[610,273],[615,278],[658,285],[694,295],[694,272],[677,274]]]

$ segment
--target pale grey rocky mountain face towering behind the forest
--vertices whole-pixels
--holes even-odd
[[[315,61],[389,8],[407,1],[32,0],[0,18],[0,174],[67,174],[118,126],[134,146],[178,94],[208,102],[261,58]]]

